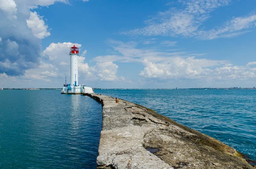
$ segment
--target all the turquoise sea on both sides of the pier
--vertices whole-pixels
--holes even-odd
[[[256,90],[95,90],[141,104],[256,159]],[[0,91],[0,169],[96,168],[102,106],[60,91]]]

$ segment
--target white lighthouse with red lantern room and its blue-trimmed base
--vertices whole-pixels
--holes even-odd
[[[82,94],[82,93],[93,93],[93,89],[86,85],[81,85],[78,82],[78,57],[79,48],[75,45],[70,48],[70,83],[67,84],[67,78],[61,94]]]

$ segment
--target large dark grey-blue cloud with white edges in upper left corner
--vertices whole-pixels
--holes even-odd
[[[30,9],[57,2],[70,4],[69,0],[0,0],[0,74],[23,77],[29,69],[40,68],[41,39],[48,37],[50,32],[44,18]],[[44,57],[49,59],[47,55]],[[58,65],[67,63],[61,60]]]

